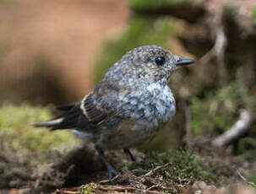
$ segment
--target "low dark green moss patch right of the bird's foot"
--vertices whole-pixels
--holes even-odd
[[[123,170],[153,170],[157,166],[165,167],[155,170],[151,177],[155,180],[163,179],[177,187],[191,185],[194,181],[221,184],[229,182],[228,179],[232,175],[227,166],[221,166],[212,158],[203,161],[199,156],[189,154],[184,149],[161,154],[151,152],[143,161],[127,164]]]

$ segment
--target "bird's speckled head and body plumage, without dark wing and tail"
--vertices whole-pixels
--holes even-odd
[[[155,56],[166,57],[170,63],[166,62],[165,66],[158,67]],[[86,100],[91,100],[90,105],[93,104],[96,110],[107,114],[107,121],[95,130],[84,130],[89,131],[96,146],[137,146],[154,137],[161,124],[174,115],[175,100],[167,83],[172,71],[176,69],[172,64],[174,60],[178,60],[175,57],[164,48],[142,46],[129,51],[110,68],[101,83],[81,104],[85,115]],[[97,116],[101,117],[101,113]]]

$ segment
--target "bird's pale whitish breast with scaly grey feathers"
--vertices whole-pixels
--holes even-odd
[[[166,85],[150,84],[122,97],[122,117],[146,120],[152,125],[166,122],[175,114],[175,99]]]

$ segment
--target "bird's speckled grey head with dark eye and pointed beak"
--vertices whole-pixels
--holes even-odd
[[[193,60],[174,55],[161,46],[140,46],[128,51],[110,73],[123,81],[131,79],[131,82],[139,82],[143,79],[167,84],[177,68],[191,63]]]

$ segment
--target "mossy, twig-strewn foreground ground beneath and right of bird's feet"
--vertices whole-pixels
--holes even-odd
[[[78,194],[111,191],[182,193],[195,181],[204,181],[207,185],[218,187],[227,186],[239,181],[236,175],[238,165],[234,164],[234,161],[236,159],[230,157],[220,159],[214,155],[191,154],[183,148],[175,152],[150,152],[142,160],[125,164],[122,175],[118,175],[112,181],[95,181],[56,193],[63,194],[68,191],[77,191]],[[248,179],[253,186],[254,182],[251,180]]]

